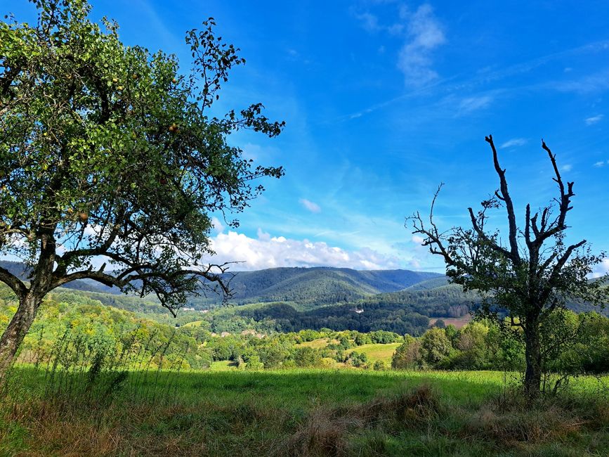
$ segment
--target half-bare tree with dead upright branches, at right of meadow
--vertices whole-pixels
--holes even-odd
[[[429,224],[419,212],[410,217],[414,232],[425,237],[423,245],[433,254],[443,257],[447,276],[464,290],[478,290],[485,295],[479,314],[504,324],[508,316],[511,328],[522,330],[525,341],[526,371],[524,387],[531,397],[539,394],[542,377],[541,328],[557,309],[564,309],[567,300],[582,300],[599,304],[605,300],[601,281],[589,281],[592,267],[603,255],[593,255],[586,240],[565,243],[566,217],[572,209],[573,183],[565,186],[556,164],[556,155],[542,141],[558,185],[554,203],[532,214],[530,205],[525,211],[525,225],[519,229],[516,212],[508,191],[506,170],[499,158],[492,136],[487,136],[492,149],[499,189],[482,209],[475,213],[469,208],[471,228],[454,227],[440,231],[433,219],[433,198]],[[503,207],[509,227],[507,243],[498,231],[485,226],[488,210]]]

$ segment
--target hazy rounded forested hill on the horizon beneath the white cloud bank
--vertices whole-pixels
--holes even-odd
[[[409,270],[358,271],[331,267],[274,268],[240,271],[230,281],[233,301],[331,304],[353,302],[370,295],[395,292],[438,273]]]

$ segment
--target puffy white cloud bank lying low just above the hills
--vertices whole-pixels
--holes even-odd
[[[207,262],[243,262],[235,270],[258,270],[277,266],[338,266],[353,269],[400,268],[397,257],[382,255],[367,247],[357,251],[343,250],[324,242],[292,240],[270,236],[258,228],[258,238],[228,231],[211,238],[216,252]]]

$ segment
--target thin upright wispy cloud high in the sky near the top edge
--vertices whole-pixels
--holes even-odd
[[[400,10],[400,18],[405,20],[408,39],[400,50],[398,68],[404,73],[407,85],[422,86],[438,77],[431,67],[431,51],[445,44],[443,28],[429,4],[419,6],[414,13],[404,6]],[[394,33],[400,31],[393,27]]]

